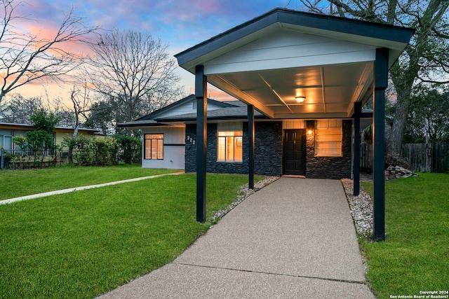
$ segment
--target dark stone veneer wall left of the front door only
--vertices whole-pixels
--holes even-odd
[[[185,172],[196,172],[196,125],[185,128]],[[208,123],[207,172],[248,174],[248,123],[243,123],[243,162],[217,162],[217,124]],[[255,174],[281,176],[282,122],[255,123]]]

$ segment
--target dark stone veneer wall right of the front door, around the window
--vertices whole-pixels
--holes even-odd
[[[313,127],[314,120],[307,120]],[[352,120],[343,120],[342,157],[315,157],[315,135],[307,135],[306,177],[311,179],[343,179],[351,177]]]

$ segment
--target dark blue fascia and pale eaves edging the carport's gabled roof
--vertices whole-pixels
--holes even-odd
[[[178,53],[175,57],[181,67],[194,74],[196,65],[205,64],[225,53],[246,46],[279,28],[390,48],[392,49],[391,64],[408,44],[414,32],[413,29],[403,27],[275,8],[260,17]]]

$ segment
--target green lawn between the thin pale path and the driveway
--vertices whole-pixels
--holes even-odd
[[[207,180],[210,219],[248,176]],[[0,205],[0,298],[93,298],[112,290],[170,262],[207,230],[195,211],[194,174]]]

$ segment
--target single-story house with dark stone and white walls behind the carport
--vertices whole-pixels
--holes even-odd
[[[255,111],[255,174],[351,176],[352,123],[352,119],[270,120]],[[142,130],[142,167],[196,172],[194,95],[119,127]],[[248,174],[248,119],[243,102],[208,99],[207,171]]]

